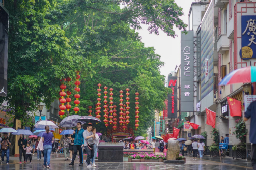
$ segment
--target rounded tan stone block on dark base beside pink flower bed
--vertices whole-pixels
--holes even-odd
[[[168,140],[167,160],[176,160],[180,154],[180,145],[177,140]]]

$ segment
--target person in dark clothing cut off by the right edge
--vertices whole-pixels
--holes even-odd
[[[253,170],[256,170],[256,101],[252,102],[249,107],[247,108],[247,111],[245,112],[244,121],[248,121],[248,119],[251,119],[250,124],[250,142],[251,142],[251,164],[253,167]]]

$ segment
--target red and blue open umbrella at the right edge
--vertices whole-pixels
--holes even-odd
[[[249,66],[234,70],[222,79],[219,86],[245,82],[256,82],[256,67]]]

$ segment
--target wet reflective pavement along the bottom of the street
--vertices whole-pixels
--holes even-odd
[[[220,158],[204,156],[204,160],[192,160],[186,157],[186,164],[163,164],[163,163],[97,163],[96,168],[87,168],[86,165],[78,166],[77,158],[74,166],[69,166],[70,161],[64,161],[64,155],[51,156],[50,170],[252,170],[250,162],[246,160],[233,160],[233,158]],[[10,157],[10,165],[4,162],[0,170],[49,170],[42,167],[43,161],[37,162],[33,156],[32,164],[18,164],[19,158]]]

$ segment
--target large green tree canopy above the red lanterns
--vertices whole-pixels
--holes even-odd
[[[1,100],[12,108],[8,114],[30,124],[30,113],[40,102],[49,108],[60,97],[60,79],[72,78],[73,90],[75,71],[80,71],[79,115],[94,108],[101,83],[115,90],[117,106],[119,91],[131,90],[132,128],[139,92],[137,134],[152,126],[169,90],[159,71],[164,63],[135,29],[146,24],[150,33],[162,30],[174,38],[174,26],[186,30],[179,18],[182,8],[174,0],[10,0],[5,7],[10,12],[8,96]],[[103,125],[100,129],[106,130]]]

